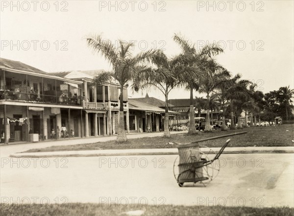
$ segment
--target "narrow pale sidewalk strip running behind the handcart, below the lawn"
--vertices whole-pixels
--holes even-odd
[[[214,152],[221,149],[211,148]],[[201,149],[204,153],[207,148]],[[210,151],[210,153],[212,153]],[[293,146],[286,147],[227,147],[223,154],[253,154],[253,153],[294,153]],[[14,153],[10,157],[17,158],[48,158],[48,157],[97,157],[97,156],[130,156],[130,155],[177,155],[177,148],[150,148],[150,149],[104,149],[84,151],[53,151],[53,152],[27,152]]]

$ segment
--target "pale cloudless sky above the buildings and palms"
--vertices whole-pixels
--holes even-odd
[[[181,52],[172,40],[176,33],[196,48],[218,43],[224,53],[217,61],[264,93],[294,88],[293,0],[0,0],[0,6],[0,57],[45,72],[110,71],[109,63],[87,47],[93,34],[113,44],[133,41],[134,54],[161,48],[172,57]],[[129,91],[129,97],[146,93],[164,100],[154,88]],[[189,96],[175,89],[169,98]]]

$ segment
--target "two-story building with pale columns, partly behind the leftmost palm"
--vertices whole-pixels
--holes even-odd
[[[93,85],[93,78],[102,70],[70,71],[51,73],[56,76],[82,82],[83,95],[82,121],[85,126],[85,137],[112,135],[118,131],[120,85],[112,79],[101,86]],[[128,119],[128,95],[127,87],[123,90],[123,109],[125,118]],[[129,124],[126,121],[126,130],[129,132]]]

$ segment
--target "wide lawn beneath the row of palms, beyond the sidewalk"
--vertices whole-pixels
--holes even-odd
[[[211,133],[203,131],[196,135],[173,134],[167,137],[148,137],[129,139],[123,144],[116,141],[98,142],[92,144],[59,145],[47,148],[30,149],[26,152],[48,152],[48,151],[69,151],[69,150],[98,150],[98,149],[131,149],[131,148],[174,148],[174,144],[169,143],[189,143],[200,139],[232,134],[235,132],[246,131],[246,134],[230,137],[231,142],[228,147],[245,146],[294,146],[294,124],[283,124],[281,126],[261,126],[249,127],[236,130],[214,130]],[[201,142],[201,145],[208,147],[221,147],[228,138],[221,138],[207,142]]]

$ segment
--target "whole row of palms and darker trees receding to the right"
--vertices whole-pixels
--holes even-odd
[[[130,85],[138,92],[151,86],[157,88],[165,96],[164,136],[170,137],[169,131],[169,93],[175,88],[185,88],[190,92],[190,121],[188,134],[196,134],[195,112],[206,110],[205,130],[211,131],[210,110],[220,108],[222,112],[222,130],[226,130],[225,117],[230,116],[231,128],[235,129],[234,116],[241,126],[240,114],[263,120],[273,119],[276,115],[286,119],[293,118],[290,112],[292,94],[294,90],[281,87],[278,91],[263,94],[257,90],[257,85],[241,74],[235,76],[219,64],[215,57],[223,53],[223,49],[216,44],[208,44],[200,49],[180,34],[173,35],[173,41],[181,48],[181,53],[169,57],[163,50],[150,49],[133,55],[133,43],[119,40],[118,46],[109,40],[103,40],[101,35],[87,37],[88,46],[101,54],[112,66],[112,71],[97,74],[93,85],[101,85],[115,78],[120,84],[120,124],[118,128],[118,142],[126,141],[123,119],[123,87]],[[194,91],[204,93],[206,100],[197,97],[194,104]],[[216,103],[218,102],[218,103]],[[220,104],[220,107],[219,107]],[[194,108],[196,106],[196,108]],[[247,126],[245,118],[245,126]]]

